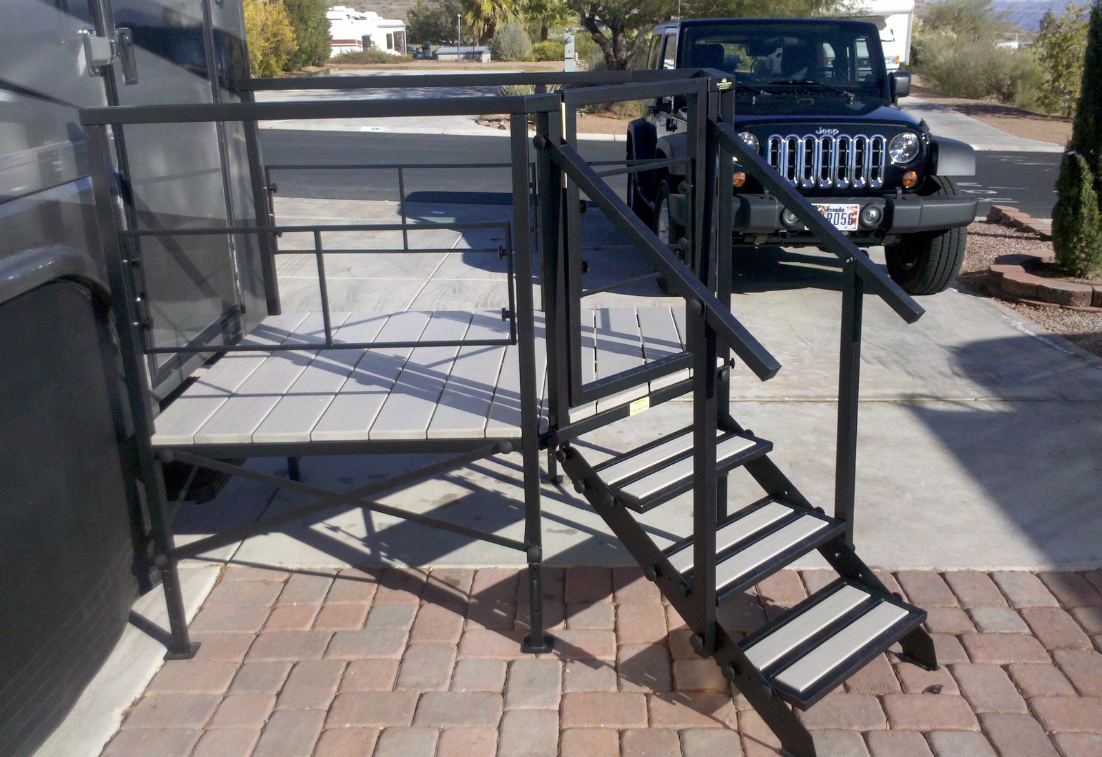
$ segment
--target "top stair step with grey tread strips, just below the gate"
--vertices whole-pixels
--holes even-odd
[[[687,428],[617,458],[595,470],[630,509],[645,513],[692,489],[693,429]],[[745,434],[716,435],[716,472],[732,469],[773,449]]]

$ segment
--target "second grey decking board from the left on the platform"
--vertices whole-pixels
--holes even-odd
[[[347,317],[347,312],[331,314],[334,326]],[[320,312],[311,312],[284,343],[316,344],[324,339],[324,318]],[[306,370],[314,354],[313,350],[271,353],[195,432],[195,443],[245,445],[252,441],[252,432]]]

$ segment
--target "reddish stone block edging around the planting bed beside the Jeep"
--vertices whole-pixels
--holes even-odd
[[[1006,223],[1023,231],[1031,231],[1041,239],[1052,238],[1051,221],[1038,221],[1016,208],[993,205],[987,211],[987,222]],[[1102,285],[1045,278],[1026,271],[1035,262],[1051,263],[1054,255],[1004,255],[998,261],[988,270],[1007,296],[1037,304],[1102,312]]]

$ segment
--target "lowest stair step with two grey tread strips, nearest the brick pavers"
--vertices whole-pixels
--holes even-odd
[[[914,605],[839,579],[738,646],[786,701],[806,710],[925,619]]]

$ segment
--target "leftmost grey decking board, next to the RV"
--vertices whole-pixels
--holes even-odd
[[[290,312],[269,316],[241,343],[279,344],[294,333],[307,315]],[[268,353],[263,352],[228,352],[223,355],[156,417],[152,443],[194,443],[195,432],[267,359]]]

